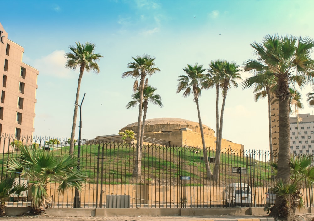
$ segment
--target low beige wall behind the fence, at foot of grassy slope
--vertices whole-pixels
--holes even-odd
[[[69,191],[68,194],[58,194],[55,188],[58,184],[48,185],[49,196],[53,195],[55,203],[71,203],[74,198],[74,189]],[[100,201],[101,185],[98,184],[98,202]],[[96,189],[97,184],[86,184],[80,193],[81,205],[88,204],[88,202],[96,202]],[[185,189],[185,190],[184,190]],[[266,202],[266,194],[268,188],[265,187],[253,187],[252,198],[253,205],[263,205]],[[167,202],[177,205],[180,203],[180,193],[183,196],[185,191],[188,204],[204,203],[204,204],[225,204],[225,192],[223,187],[216,186],[156,186],[156,185],[117,185],[117,184],[103,184],[102,204],[106,205],[106,195],[118,194],[118,195],[130,195],[131,204],[156,204],[163,205]],[[301,193],[306,196],[306,192],[309,190],[301,189]],[[314,191],[314,188],[312,192]],[[304,197],[305,205],[307,205],[307,199]]]

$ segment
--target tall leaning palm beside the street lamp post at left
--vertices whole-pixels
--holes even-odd
[[[70,142],[70,154],[74,152],[74,139],[75,139],[75,127],[76,127],[76,117],[78,113],[78,98],[79,90],[81,87],[81,81],[84,71],[94,71],[96,74],[100,72],[99,66],[96,63],[99,61],[101,56],[100,54],[95,54],[96,45],[91,42],[86,42],[85,45],[82,45],[80,42],[75,42],[76,45],[69,46],[71,52],[67,52],[64,57],[67,61],[65,67],[70,70],[75,70],[79,67],[79,76],[78,76],[78,87],[76,90],[75,105],[74,105],[74,115],[71,131],[71,142]]]

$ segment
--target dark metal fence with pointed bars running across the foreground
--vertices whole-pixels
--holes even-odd
[[[47,148],[47,141],[55,138],[34,137],[21,139],[24,144],[37,143],[39,147],[53,151],[56,157],[69,152],[67,139]],[[0,175],[6,174],[9,158],[19,154],[11,145],[14,137],[0,138]],[[8,149],[9,151],[5,151]],[[78,145],[74,148],[77,156]],[[215,166],[215,150],[208,148],[210,170]],[[199,147],[171,147],[167,145],[144,145],[141,159],[141,177],[133,176],[136,157],[134,144],[107,142],[106,140],[81,141],[80,168],[87,183],[80,191],[82,208],[209,208],[226,207],[229,204],[226,189],[232,183],[250,187],[250,207],[264,207],[266,192],[273,187],[275,178],[268,162],[268,151],[223,149],[220,157],[220,178],[206,178],[203,150]],[[276,159],[277,156],[274,156]],[[21,182],[33,183],[31,178],[17,177]],[[51,207],[73,207],[75,190],[60,195],[58,183],[47,185]],[[313,186],[301,184],[305,205],[313,207]],[[228,192],[228,191],[227,191]],[[242,196],[241,196],[242,197]],[[12,196],[7,206],[30,205],[30,190],[23,196]],[[227,202],[226,202],[227,201]],[[244,205],[243,205],[244,206]]]

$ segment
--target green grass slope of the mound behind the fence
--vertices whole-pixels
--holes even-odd
[[[78,147],[75,146],[74,156],[77,156],[77,150]],[[68,152],[69,146],[58,146],[57,150],[52,151],[56,157]],[[19,152],[0,155],[0,171],[1,167],[5,167],[8,156],[12,157],[16,154]],[[215,156],[215,151],[210,151],[208,156]],[[141,159],[142,177],[138,180],[133,177],[136,148],[127,144],[91,144],[82,146],[80,169],[86,175],[89,183],[143,184],[146,178],[151,178],[156,185],[218,185],[214,181],[206,180],[206,165],[201,157],[203,157],[203,151],[195,153],[181,147],[145,146]],[[242,182],[252,181],[254,186],[268,186],[267,183],[272,182],[268,164],[257,161],[256,165],[250,166],[248,159],[243,156],[222,153],[219,185],[238,182],[239,175],[232,173],[232,167],[245,167],[247,174],[242,175]],[[210,163],[210,168],[213,171],[214,163]],[[180,180],[180,176],[189,176],[191,180],[183,182]]]

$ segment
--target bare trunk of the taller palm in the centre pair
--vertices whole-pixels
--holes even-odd
[[[133,177],[136,177],[137,180],[141,179],[141,122],[142,122],[142,111],[143,111],[143,92],[144,92],[144,81],[145,75],[142,73],[139,91],[139,111],[138,111],[138,131],[137,131],[137,139],[136,139],[136,158],[134,162],[133,168]]]

